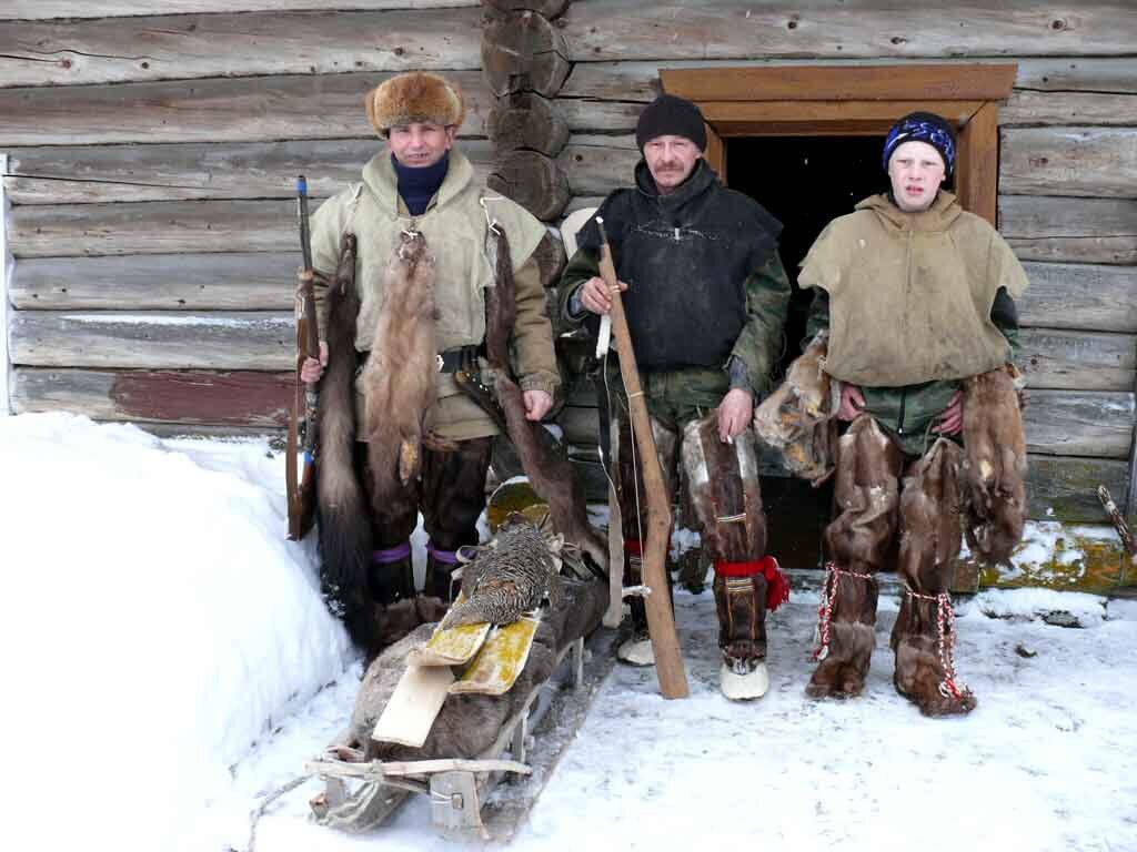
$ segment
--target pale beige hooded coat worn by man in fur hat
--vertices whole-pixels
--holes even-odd
[[[484,201],[484,208],[482,206]],[[412,216],[399,198],[388,150],[363,169],[363,183],[325,201],[312,219],[315,268],[335,272],[340,239],[350,231],[357,239],[356,287],[359,292],[356,349],[371,348],[383,304],[383,273],[399,232],[414,227],[426,237],[434,257],[434,296],[438,304],[438,351],[476,345],[485,336],[484,289],[493,286],[493,270],[485,256],[489,217],[505,228],[517,286],[517,319],[512,350],[514,369],[523,391],[553,393],[561,379],[553,351],[545,290],[532,254],[545,236],[545,226],[523,208],[484,190],[474,178],[470,160],[450,151],[450,167],[426,211]],[[356,412],[363,412],[358,393]],[[432,429],[441,437],[466,440],[497,434],[493,421],[464,396],[449,375],[439,376],[439,396]]]

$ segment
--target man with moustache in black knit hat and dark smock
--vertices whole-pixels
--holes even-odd
[[[690,101],[657,98],[640,116],[636,141],[644,156],[636,189],[613,192],[597,217],[626,290],[623,306],[664,476],[674,493],[681,454],[703,543],[715,560],[723,693],[758,698],[767,686],[767,598],[777,605],[786,588],[777,563],[763,558],[749,424],[782,348],[790,287],[778,257],[781,224],[719,182],[703,159],[706,128]],[[598,275],[595,219],[579,244],[562,277],[562,310],[595,331],[612,304]],[[617,394],[614,408],[626,579],[638,583],[646,501],[626,399]],[[633,635],[619,655],[654,662],[642,602],[633,599],[631,609]]]

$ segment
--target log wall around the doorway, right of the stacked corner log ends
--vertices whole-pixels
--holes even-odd
[[[495,6],[500,3],[495,2]],[[545,3],[509,3],[533,15]],[[999,228],[1024,261],[1022,367],[1035,518],[1101,520],[1104,483],[1135,510],[1137,375],[1137,14],[1130,2],[912,5],[714,0],[555,3],[536,56],[568,68],[541,110],[567,125],[556,165],[570,198],[562,216],[631,185],[636,119],[659,91],[662,68],[745,65],[903,66],[1016,62],[999,110]],[[529,24],[532,27],[532,24]],[[543,25],[542,25],[543,26]],[[506,51],[520,20],[485,32]],[[497,80],[521,78],[514,66]],[[530,56],[533,56],[531,52]],[[531,62],[536,67],[536,61]],[[487,73],[491,64],[487,61]],[[521,84],[524,89],[524,84]],[[761,95],[756,94],[756,99]],[[503,152],[499,151],[499,156]],[[528,186],[553,184],[547,164]],[[525,179],[517,178],[520,198]],[[542,197],[546,200],[548,197]],[[549,219],[547,210],[540,211]],[[603,493],[591,391],[579,387],[559,416],[574,454]]]

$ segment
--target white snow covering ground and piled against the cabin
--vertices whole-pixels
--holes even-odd
[[[249,812],[339,733],[360,674],[310,545],[283,540],[282,458],[25,415],[0,419],[0,841],[246,849]],[[512,847],[1137,850],[1137,603],[977,595],[956,653],[979,708],[938,720],[893,690],[887,594],[865,695],[807,700],[816,605],[798,591],[771,616],[771,691],[731,704],[711,594],[677,593],[691,696],[617,666]],[[256,849],[450,847],[425,799],[349,837],[308,821],[318,790],[274,803]]]

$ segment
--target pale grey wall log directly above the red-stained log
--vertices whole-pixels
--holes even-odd
[[[292,314],[14,311],[11,361],[30,367],[288,370]]]

